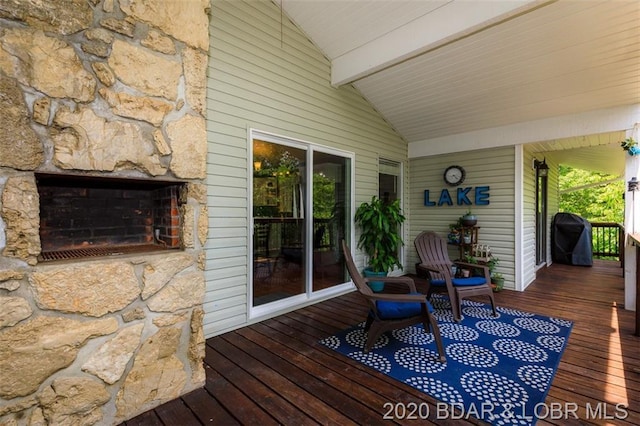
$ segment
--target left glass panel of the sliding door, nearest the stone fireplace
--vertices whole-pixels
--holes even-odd
[[[306,293],[306,156],[253,141],[253,306]]]

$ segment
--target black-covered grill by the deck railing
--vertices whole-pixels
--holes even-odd
[[[551,257],[567,265],[591,266],[591,224],[573,213],[557,213],[551,224]]]

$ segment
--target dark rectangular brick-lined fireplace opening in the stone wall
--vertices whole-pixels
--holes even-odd
[[[182,182],[36,174],[40,261],[182,248]]]

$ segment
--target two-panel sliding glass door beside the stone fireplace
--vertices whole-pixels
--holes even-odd
[[[345,283],[351,159],[269,138],[254,138],[252,150],[252,306]]]

